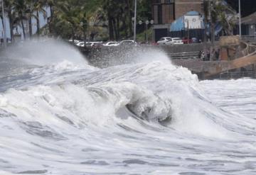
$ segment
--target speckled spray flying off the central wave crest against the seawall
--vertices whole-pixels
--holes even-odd
[[[170,57],[156,47],[144,45],[101,47],[92,49],[88,61],[96,67],[113,67],[122,64],[164,62],[171,64]]]

